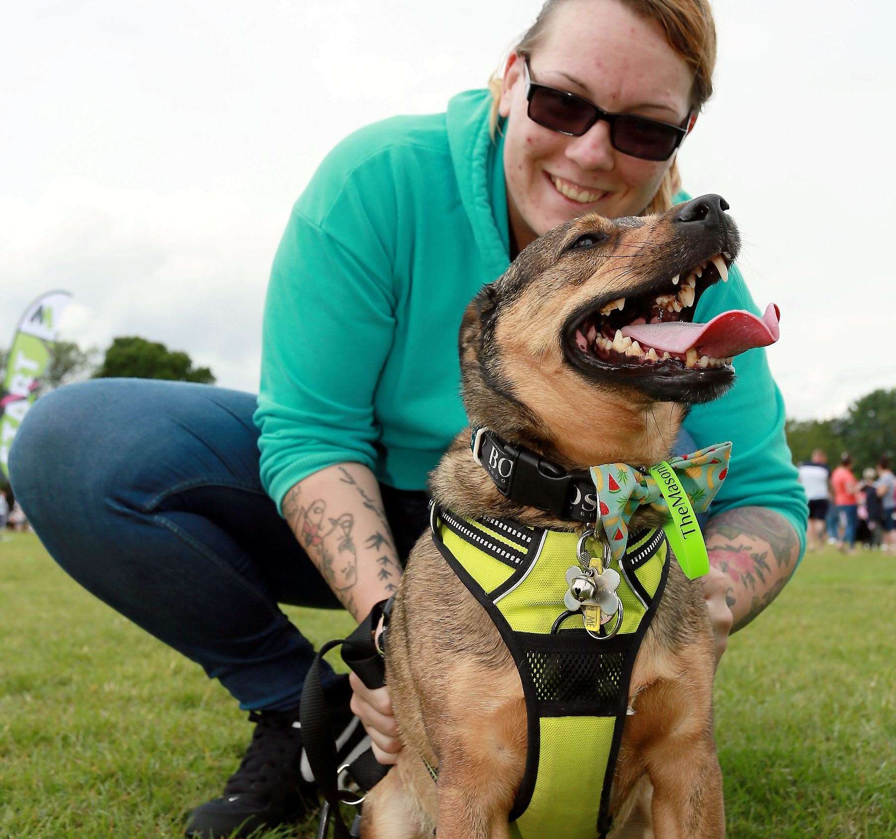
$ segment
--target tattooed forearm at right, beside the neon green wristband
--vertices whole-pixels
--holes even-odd
[[[703,589],[718,660],[728,633],[745,627],[787,584],[797,567],[799,537],[784,516],[759,506],[713,516],[704,536],[711,567]]]

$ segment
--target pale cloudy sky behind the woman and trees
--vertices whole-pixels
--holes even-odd
[[[255,392],[289,210],[333,145],[482,87],[539,0],[31,0],[0,35],[0,346],[136,334]],[[715,94],[679,155],[719,193],[797,419],[896,386],[892,32],[883,0],[716,0]],[[571,45],[573,48],[574,45]]]

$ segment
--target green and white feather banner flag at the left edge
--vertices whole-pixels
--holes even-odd
[[[13,437],[47,371],[50,344],[56,341],[59,320],[71,298],[68,291],[47,291],[25,309],[16,328],[0,391],[0,469],[7,478],[6,461]]]

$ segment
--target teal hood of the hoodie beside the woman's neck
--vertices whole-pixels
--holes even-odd
[[[488,132],[491,105],[489,91],[459,93],[448,102],[445,125],[463,209],[487,276],[496,280],[510,265],[510,231],[503,121],[498,123],[493,141]]]

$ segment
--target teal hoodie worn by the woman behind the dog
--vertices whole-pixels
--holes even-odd
[[[467,424],[461,316],[510,264],[504,143],[490,137],[489,105],[487,91],[467,91],[444,114],[362,128],[293,208],[271,270],[254,414],[263,485],[278,506],[297,481],[347,461],[392,487],[424,489]],[[694,319],[730,308],[758,314],[736,268]],[[731,391],[685,421],[698,446],[734,444],[712,512],[769,507],[803,539],[806,496],[765,351],[736,367]]]

